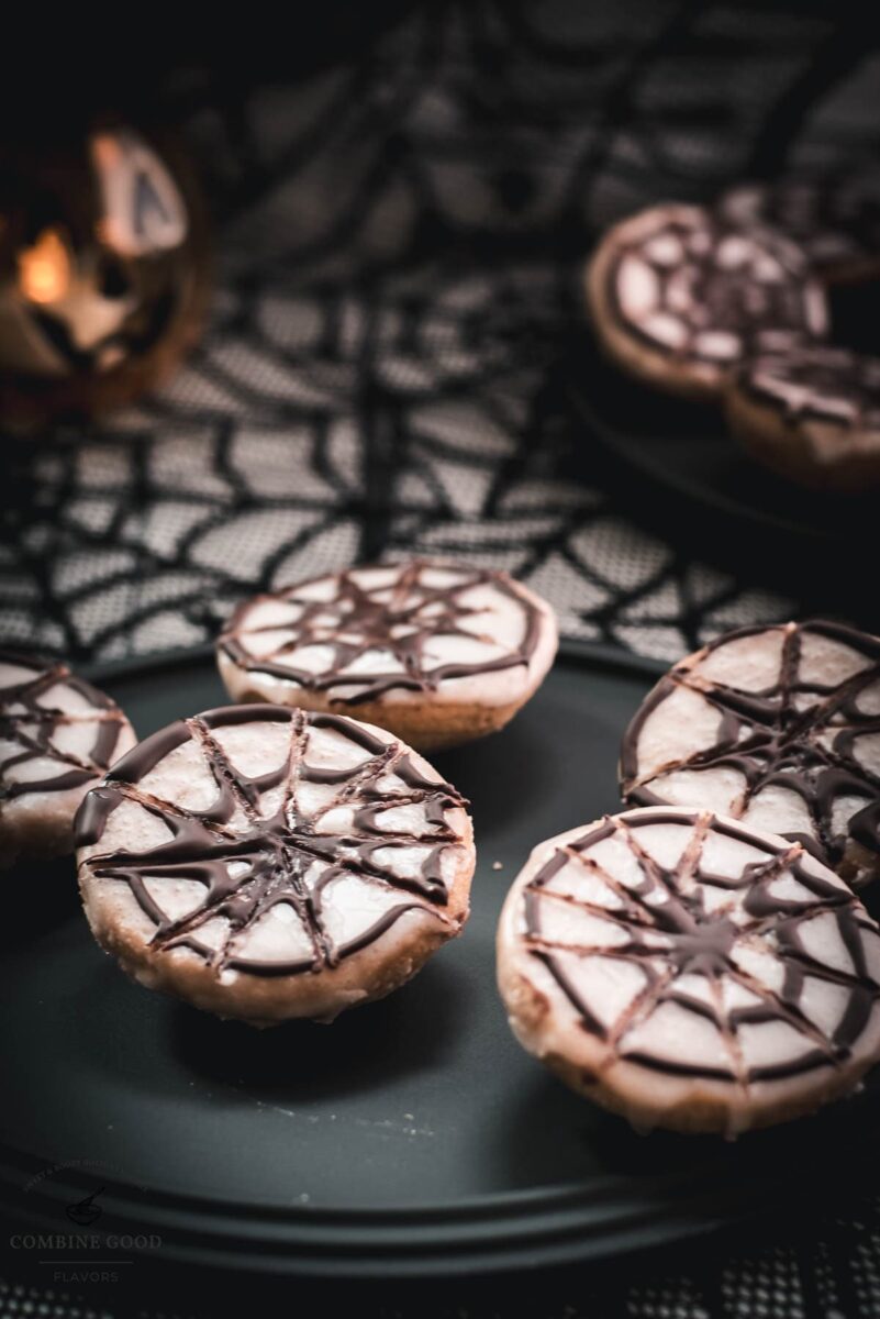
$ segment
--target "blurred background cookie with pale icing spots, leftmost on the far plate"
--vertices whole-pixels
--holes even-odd
[[[586,273],[603,348],[672,393],[711,398],[756,348],[821,338],[827,306],[788,240],[698,206],[655,206],[617,224]]]

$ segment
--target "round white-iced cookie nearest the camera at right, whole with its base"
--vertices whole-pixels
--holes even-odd
[[[800,843],[627,811],[541,843],[505,902],[520,1043],[635,1126],[735,1136],[880,1057],[880,930]]]

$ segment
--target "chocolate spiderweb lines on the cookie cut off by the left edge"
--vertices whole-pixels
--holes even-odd
[[[12,666],[32,673],[0,686],[0,803],[29,793],[63,793],[99,778],[112,764],[124,723],[123,711],[82,678],[75,678],[63,663],[43,665],[30,656],[0,650],[0,683],[3,669]],[[47,704],[45,698],[53,687],[67,687],[74,698],[74,710]],[[83,710],[87,702],[91,710]],[[82,754],[62,749],[57,737],[75,724],[94,729],[91,747]],[[55,774],[20,777],[25,766],[34,761],[51,761]],[[11,772],[13,778],[11,778]]]

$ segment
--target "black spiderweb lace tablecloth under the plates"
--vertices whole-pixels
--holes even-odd
[[[161,112],[215,214],[208,330],[167,388],[111,422],[4,438],[5,641],[149,657],[206,642],[254,588],[410,550],[507,567],[568,637],[664,658],[810,607],[810,582],[780,591],[760,563],[719,566],[663,516],[648,530],[566,379],[578,272],[610,222],[876,152],[867,11],[397,11],[295,79],[228,58],[166,79]],[[796,1240],[730,1237],[601,1285],[585,1270],[552,1314],[880,1314],[880,1207],[835,1212]],[[0,1290],[3,1314],[128,1306]],[[512,1298],[498,1285],[474,1306],[503,1315]]]

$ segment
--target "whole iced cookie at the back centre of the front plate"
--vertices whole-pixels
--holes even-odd
[[[217,663],[234,700],[352,714],[436,751],[503,728],[557,644],[551,607],[506,572],[411,559],[256,596]]]

